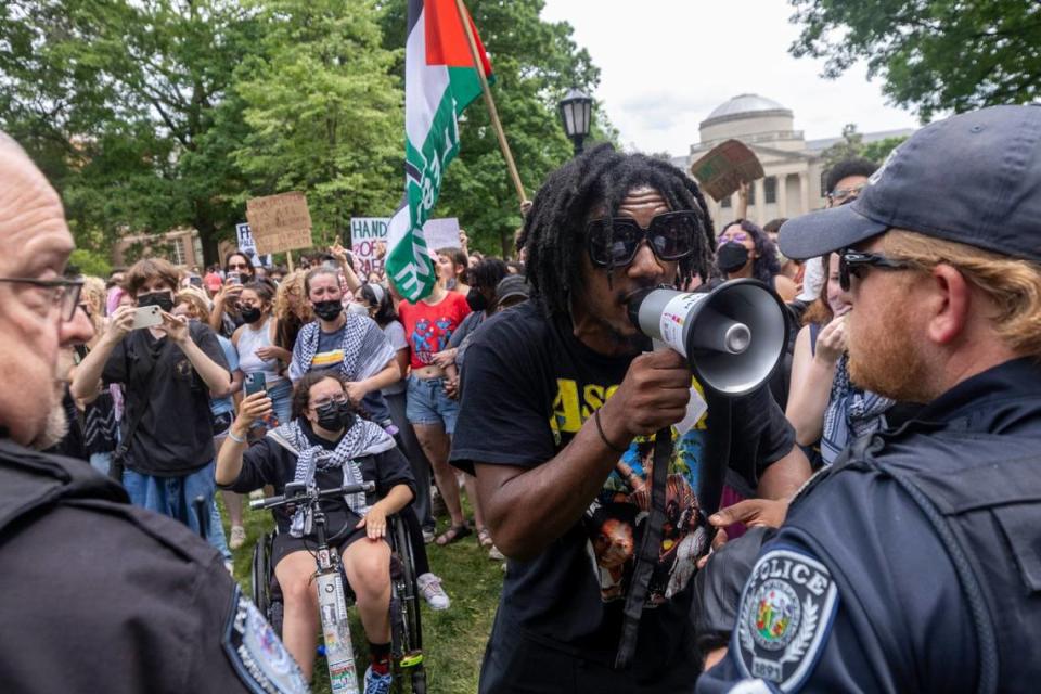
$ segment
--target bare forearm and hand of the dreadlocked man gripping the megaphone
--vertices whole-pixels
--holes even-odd
[[[564,535],[600,492],[619,449],[634,436],[683,419],[690,384],[691,372],[677,352],[641,355],[600,409],[603,437],[593,416],[560,453],[530,470],[477,461],[478,494],[496,545],[507,556],[526,560]]]

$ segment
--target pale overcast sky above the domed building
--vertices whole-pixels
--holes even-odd
[[[878,79],[858,65],[837,80],[823,61],[792,57],[798,36],[786,0],[545,0],[542,17],[566,21],[601,69],[594,97],[628,147],[686,154],[697,124],[731,97],[757,93],[795,113],[807,140],[913,128],[886,105]]]

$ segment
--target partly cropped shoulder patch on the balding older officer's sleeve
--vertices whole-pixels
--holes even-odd
[[[253,601],[235,587],[234,608],[224,629],[224,652],[239,679],[255,694],[309,692],[296,660],[282,645]]]

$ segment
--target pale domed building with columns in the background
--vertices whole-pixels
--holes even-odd
[[[807,141],[795,129],[795,114],[772,99],[759,94],[738,94],[717,106],[698,126],[699,142],[692,144],[678,163],[687,171],[691,165],[725,140],[740,140],[762,164],[766,178],[753,183],[748,218],[763,224],[777,217],[795,217],[824,206],[821,154],[841,138]],[[863,134],[863,142],[911,134],[912,130],[890,130]],[[717,229],[734,219],[737,193],[717,203],[706,196]]]

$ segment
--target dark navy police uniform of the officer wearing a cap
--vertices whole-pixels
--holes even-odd
[[[858,441],[792,503],[699,694],[1036,692],[1041,364]]]

